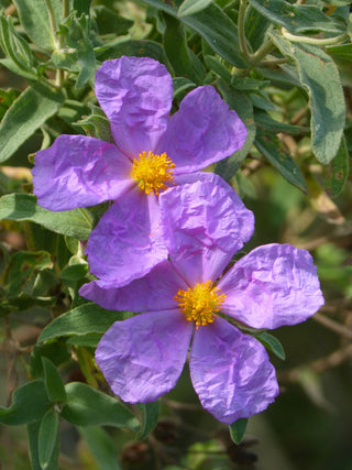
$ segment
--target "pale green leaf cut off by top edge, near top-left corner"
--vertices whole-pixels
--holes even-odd
[[[21,24],[28,35],[40,47],[52,51],[54,37],[45,1],[43,0],[13,0],[20,15]],[[62,21],[63,7],[61,1],[51,0],[56,24]]]

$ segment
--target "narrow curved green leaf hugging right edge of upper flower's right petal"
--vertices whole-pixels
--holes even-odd
[[[237,111],[244,122],[248,131],[243,147],[234,152],[228,159],[217,163],[216,173],[222,176],[226,181],[230,181],[241,166],[252,146],[252,143],[254,142],[255,124],[253,120],[253,106],[245,95],[242,95],[226,81],[220,79],[218,81],[218,86],[223,99],[230,106],[230,109],[234,109],[234,111]]]

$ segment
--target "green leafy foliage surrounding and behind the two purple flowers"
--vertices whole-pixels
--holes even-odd
[[[344,0],[0,0],[0,459],[6,469],[352,469],[352,20]],[[51,212],[31,194],[33,154],[62,133],[110,140],[95,72],[150,56],[174,110],[211,84],[243,119],[241,151],[211,170],[256,218],[245,251],[310,250],[326,305],[263,337],[282,394],[229,429],[184,373],[160,402],[128,407],[94,362],[129,313],[77,294],[85,240],[106,207]],[[280,358],[280,359],[279,359]],[[241,438],[244,439],[241,444]]]

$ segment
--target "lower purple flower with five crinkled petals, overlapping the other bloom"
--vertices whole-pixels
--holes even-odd
[[[213,179],[215,178],[215,179]],[[248,241],[253,215],[216,175],[160,197],[169,261],[121,288],[91,282],[80,294],[117,310],[142,313],[103,335],[96,361],[129,403],[157,400],[176,384],[189,345],[202,406],[231,424],[265,409],[278,394],[265,348],[237,325],[295,325],[323,304],[310,254],[289,244],[258,247],[223,270]]]

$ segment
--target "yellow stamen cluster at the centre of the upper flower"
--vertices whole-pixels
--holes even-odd
[[[145,194],[158,195],[161,189],[167,188],[165,183],[173,182],[175,163],[166,153],[154,155],[150,151],[147,155],[142,152],[139,156],[139,160],[133,160],[132,178]]]

